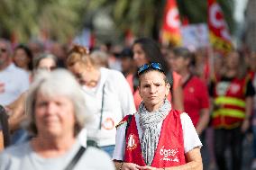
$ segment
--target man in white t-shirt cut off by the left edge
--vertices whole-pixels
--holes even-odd
[[[8,40],[0,39],[0,104],[13,103],[29,87],[29,74],[12,62]]]

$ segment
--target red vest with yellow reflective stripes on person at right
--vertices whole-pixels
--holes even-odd
[[[245,117],[245,91],[248,77],[233,78],[225,92],[222,92],[220,80],[215,83],[215,104],[222,105],[213,112],[215,128],[233,129],[239,126]],[[218,92],[219,91],[219,92]]]

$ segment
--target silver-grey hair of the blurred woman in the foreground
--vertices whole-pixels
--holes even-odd
[[[28,114],[27,128],[33,135],[38,134],[37,126],[35,123],[35,102],[38,94],[44,94],[49,97],[56,95],[63,95],[69,98],[74,104],[75,108],[75,127],[74,134],[85,126],[89,120],[89,114],[86,114],[85,98],[83,91],[78,85],[77,80],[72,76],[69,71],[65,69],[56,69],[52,72],[42,70],[34,79],[27,95],[26,113]]]

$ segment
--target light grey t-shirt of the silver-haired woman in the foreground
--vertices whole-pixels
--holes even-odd
[[[0,170],[63,170],[77,154],[80,145],[76,144],[63,156],[44,158],[32,150],[29,142],[6,148],[0,154]],[[80,157],[74,170],[114,170],[114,164],[108,155],[97,149],[88,147]]]

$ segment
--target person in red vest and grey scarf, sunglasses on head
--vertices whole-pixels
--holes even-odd
[[[171,108],[169,83],[160,64],[143,65],[138,76],[142,103],[138,112],[116,126],[116,169],[203,169],[197,131],[187,113]]]

